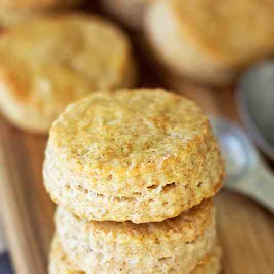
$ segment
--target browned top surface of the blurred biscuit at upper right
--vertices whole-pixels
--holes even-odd
[[[274,1],[166,0],[199,47],[230,62],[269,54],[274,46]]]

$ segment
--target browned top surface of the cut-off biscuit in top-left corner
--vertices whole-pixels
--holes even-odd
[[[1,0],[0,9],[47,8],[69,5],[76,0]],[[80,2],[80,1],[78,1]]]

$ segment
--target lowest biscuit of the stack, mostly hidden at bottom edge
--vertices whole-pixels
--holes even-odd
[[[191,274],[218,274],[221,271],[221,249],[214,247],[213,252],[206,256],[205,262],[198,264]],[[68,261],[67,256],[57,236],[54,236],[49,254],[49,274],[84,274],[75,270]],[[97,273],[96,270],[94,273]],[[105,272],[106,273],[106,272]],[[113,273],[113,272],[112,272]],[[114,272],[115,273],[115,272]],[[175,274],[176,272],[173,272]]]

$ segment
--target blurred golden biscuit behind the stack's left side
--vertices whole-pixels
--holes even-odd
[[[0,110],[31,132],[47,133],[72,101],[100,89],[130,87],[135,80],[129,40],[97,17],[35,20],[0,40]]]

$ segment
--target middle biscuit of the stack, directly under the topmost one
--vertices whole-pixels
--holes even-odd
[[[57,235],[87,273],[190,273],[216,245],[213,199],[162,222],[88,222],[59,206]]]

